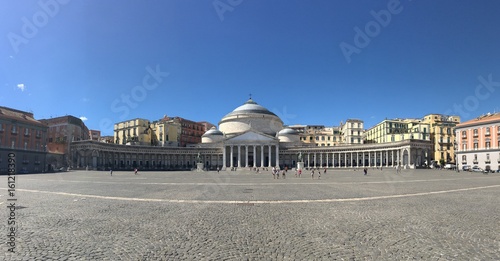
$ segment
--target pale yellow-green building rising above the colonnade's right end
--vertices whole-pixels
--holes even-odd
[[[430,141],[430,124],[420,119],[384,120],[365,132],[365,143]]]

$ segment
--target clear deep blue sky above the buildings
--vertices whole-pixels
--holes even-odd
[[[493,0],[4,1],[0,105],[85,117],[104,135],[163,115],[217,124],[250,93],[285,124],[468,120],[500,111],[498,10]]]

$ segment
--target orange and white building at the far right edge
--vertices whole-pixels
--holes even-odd
[[[488,113],[455,127],[458,167],[500,169],[500,113]]]

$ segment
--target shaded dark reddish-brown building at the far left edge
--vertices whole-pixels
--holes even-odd
[[[33,113],[0,107],[0,174],[7,174],[9,154],[17,173],[45,172],[48,127]]]

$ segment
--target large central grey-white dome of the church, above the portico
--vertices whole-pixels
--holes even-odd
[[[252,98],[228,113],[219,122],[219,130],[227,136],[234,136],[254,130],[275,136],[283,129],[283,121],[274,113],[257,104]]]

